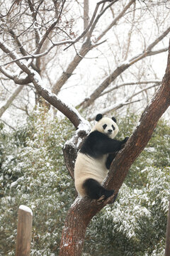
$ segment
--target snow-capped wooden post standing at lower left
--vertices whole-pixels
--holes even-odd
[[[30,255],[32,221],[32,210],[27,206],[20,206],[18,209],[16,256]]]

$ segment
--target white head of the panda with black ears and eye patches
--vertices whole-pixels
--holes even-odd
[[[98,132],[102,132],[111,139],[113,139],[118,134],[119,129],[118,125],[116,124],[115,117],[109,118],[103,117],[102,114],[97,114],[96,121],[97,123],[95,124],[93,131],[97,130]]]

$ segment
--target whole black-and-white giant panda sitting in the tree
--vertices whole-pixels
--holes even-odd
[[[103,188],[101,183],[108,174],[115,152],[128,140],[128,137],[123,141],[114,139],[118,130],[114,117],[96,115],[96,124],[84,139],[74,166],[74,183],[81,197],[106,200],[113,195],[114,191]]]

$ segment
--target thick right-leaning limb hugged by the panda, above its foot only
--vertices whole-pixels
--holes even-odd
[[[125,176],[128,174],[128,169],[137,156],[140,155],[142,150],[147,146],[149,139],[152,137],[152,132],[157,126],[157,122],[162,114],[167,110],[170,105],[170,46],[169,57],[166,67],[166,73],[162,80],[162,86],[159,87],[156,94],[152,98],[149,105],[140,118],[132,137],[128,140],[123,151],[116,156],[112,165],[111,173],[105,182],[105,186],[112,187],[118,191],[122,185]]]

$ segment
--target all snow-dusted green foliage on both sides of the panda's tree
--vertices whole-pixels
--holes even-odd
[[[130,136],[134,115],[120,119],[118,139]],[[0,255],[15,255],[18,207],[33,210],[31,255],[58,255],[74,183],[62,146],[72,136],[67,119],[33,112],[13,134],[0,125]],[[91,221],[84,255],[162,256],[169,201],[169,132],[160,121],[147,148],[131,166],[117,201]]]

